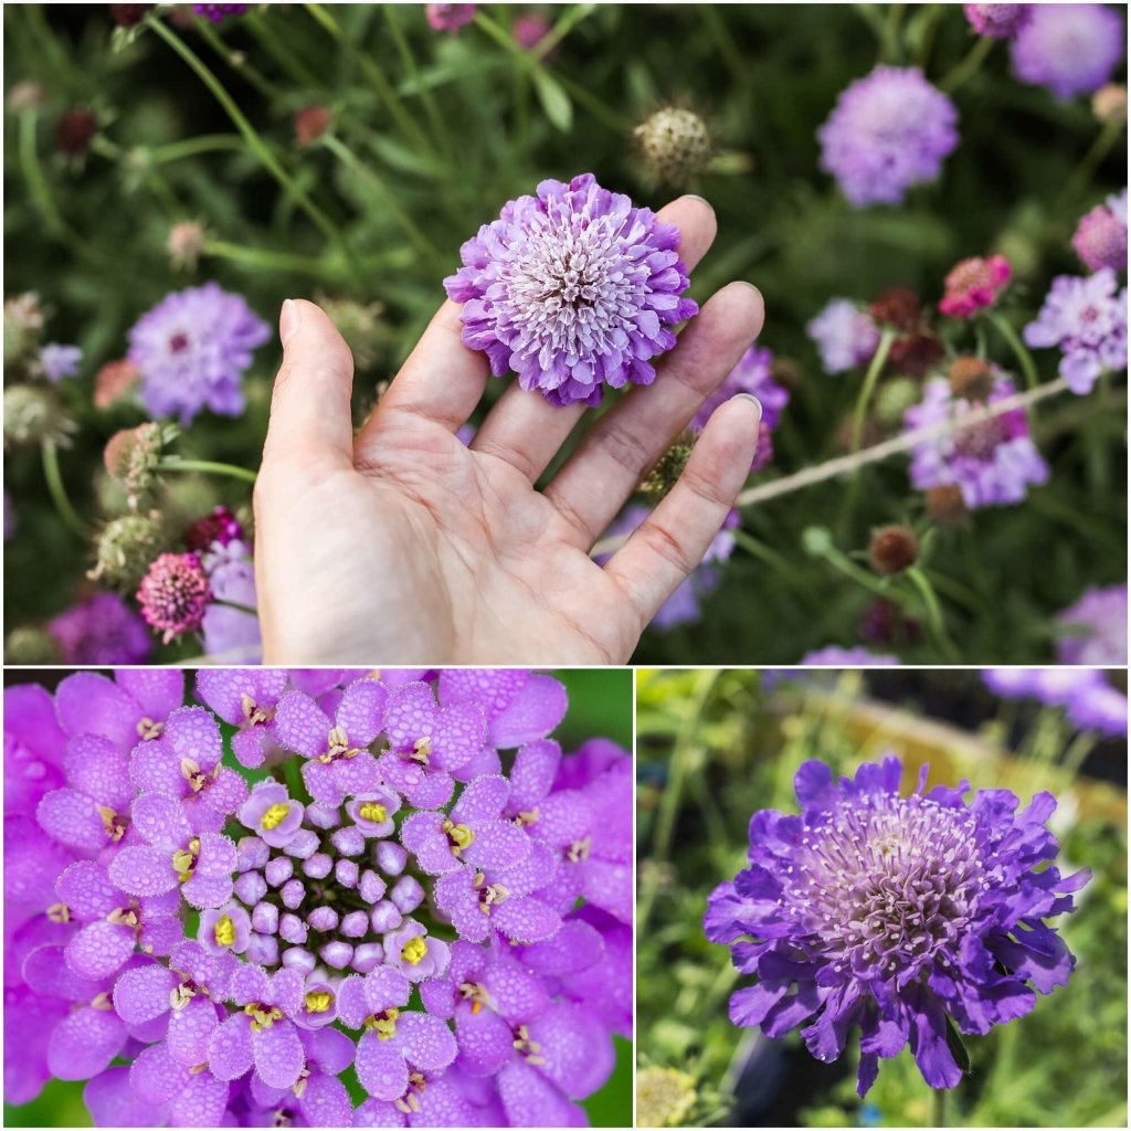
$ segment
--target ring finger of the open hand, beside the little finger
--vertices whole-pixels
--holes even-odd
[[[655,382],[633,389],[589,429],[545,492],[569,542],[588,550],[597,541],[644,474],[739,363],[761,331],[763,312],[757,287],[723,287],[680,336]]]

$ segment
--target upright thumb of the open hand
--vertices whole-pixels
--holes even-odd
[[[264,466],[353,464],[353,355],[325,312],[303,299],[279,311],[283,364],[275,378]]]

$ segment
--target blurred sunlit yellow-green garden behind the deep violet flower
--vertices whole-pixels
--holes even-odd
[[[1098,673],[1086,692],[1117,697],[1123,734],[1116,725],[1107,737],[1072,720],[1079,711],[1055,672],[1017,698],[991,691],[987,681],[1003,687],[977,672],[640,673],[641,1125],[932,1124],[930,1089],[906,1050],[881,1062],[861,1102],[855,1038],[838,1061],[822,1064],[796,1033],[770,1041],[735,1028],[727,999],[751,979],[740,981],[702,926],[708,893],[745,866],[751,814],[797,812],[793,777],[803,761],[852,774],[884,753],[904,759],[905,793],[923,763],[929,786],[965,777],[974,788],[1012,789],[1022,805],[1052,792],[1062,874],[1085,866],[1094,873],[1078,910],[1060,921],[1078,959],[1068,985],[1041,998],[1029,1016],[964,1038],[973,1074],[948,1094],[948,1125],[1125,1124],[1125,674]],[[1011,691],[1019,690],[1015,681]]]

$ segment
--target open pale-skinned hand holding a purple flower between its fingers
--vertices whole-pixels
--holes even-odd
[[[689,269],[715,239],[697,197],[661,217]],[[356,434],[353,359],[302,300],[279,317],[283,365],[254,490],[256,585],[268,664],[623,664],[701,561],[753,458],[761,408],[711,416],[679,483],[604,567],[589,556],[640,478],[762,327],[759,292],[718,291],[657,365],[535,483],[584,408],[511,383],[469,448],[486,357],[444,304]]]

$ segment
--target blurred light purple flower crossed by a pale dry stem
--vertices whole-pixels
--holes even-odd
[[[1004,400],[1016,391],[1009,378],[999,377],[988,403]],[[970,408],[969,402],[955,398],[944,378],[932,378],[924,386],[923,400],[907,409],[906,429],[941,425]],[[1029,438],[1025,409],[1015,408],[924,440],[912,452],[910,475],[920,491],[958,486],[973,510],[1020,502],[1031,484],[1047,481],[1048,465]]]

